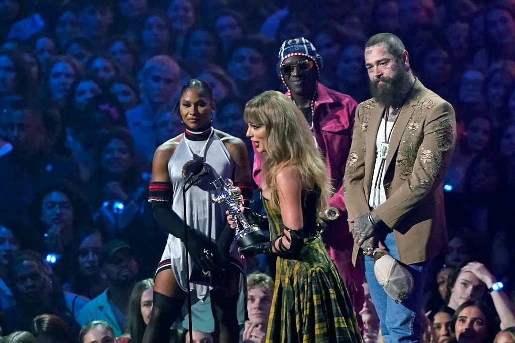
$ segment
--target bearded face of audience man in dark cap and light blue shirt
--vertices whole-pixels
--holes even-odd
[[[113,257],[104,263],[102,270],[109,284],[115,287],[126,287],[135,282],[138,263],[127,249],[118,249]]]

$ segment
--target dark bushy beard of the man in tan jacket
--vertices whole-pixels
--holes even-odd
[[[379,84],[380,81],[385,84]],[[370,93],[384,106],[402,105],[412,85],[408,72],[399,68],[399,73],[394,77],[383,76],[370,81]]]

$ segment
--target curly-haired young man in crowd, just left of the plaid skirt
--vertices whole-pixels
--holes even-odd
[[[253,272],[247,278],[247,312],[249,320],[245,322],[241,342],[261,343],[265,341],[268,316],[272,304],[272,278],[260,272]]]

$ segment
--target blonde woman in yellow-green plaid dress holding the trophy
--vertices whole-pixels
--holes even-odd
[[[277,257],[266,341],[361,342],[349,293],[322,243],[331,183],[304,115],[284,94],[265,91],[244,116],[263,156],[260,227],[269,227],[270,242],[240,251]]]

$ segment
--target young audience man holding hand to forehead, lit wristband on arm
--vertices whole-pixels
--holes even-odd
[[[466,301],[481,301],[489,290],[501,329],[515,326],[515,306],[484,264],[473,261],[456,267],[449,274],[447,288],[447,306],[456,311]]]

